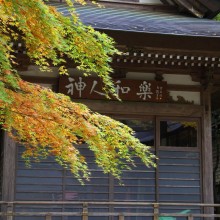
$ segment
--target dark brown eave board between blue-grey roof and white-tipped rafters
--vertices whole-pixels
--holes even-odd
[[[113,37],[118,45],[163,48],[164,50],[177,49],[181,51],[191,51],[191,53],[197,51],[202,53],[219,54],[220,52],[219,37],[179,36],[130,31],[97,30],[105,32]]]

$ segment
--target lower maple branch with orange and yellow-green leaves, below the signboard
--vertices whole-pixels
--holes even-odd
[[[4,129],[26,147],[23,156],[27,160],[53,155],[76,177],[87,179],[86,158],[77,149],[85,142],[103,171],[118,178],[122,170],[134,165],[134,155],[147,166],[154,165],[149,147],[126,125],[50,89],[20,79],[18,85],[17,91],[6,89],[11,102],[1,101],[0,116]]]

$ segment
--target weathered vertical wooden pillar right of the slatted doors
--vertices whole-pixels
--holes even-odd
[[[203,92],[202,122],[202,175],[203,202],[213,204],[213,164],[212,164],[212,129],[211,129],[211,88]],[[206,213],[213,213],[214,208],[205,208]]]

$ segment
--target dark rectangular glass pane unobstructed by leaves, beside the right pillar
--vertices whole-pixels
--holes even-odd
[[[171,147],[197,147],[197,122],[161,121],[160,145]]]

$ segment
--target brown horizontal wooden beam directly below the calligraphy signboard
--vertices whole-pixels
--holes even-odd
[[[77,101],[77,100],[75,100]],[[202,106],[190,104],[170,103],[138,103],[105,100],[78,100],[86,104],[93,111],[107,115],[142,117],[142,116],[172,116],[201,117]]]

